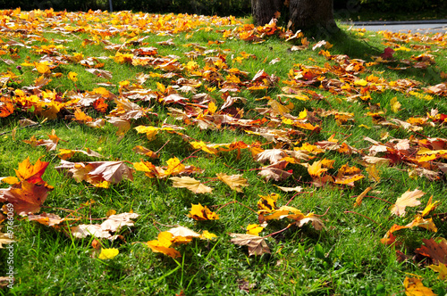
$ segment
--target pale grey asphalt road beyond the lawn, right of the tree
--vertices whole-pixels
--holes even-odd
[[[447,20],[431,21],[351,21],[344,24],[370,31],[420,32],[447,34]]]

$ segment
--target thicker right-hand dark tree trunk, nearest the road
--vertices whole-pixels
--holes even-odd
[[[339,30],[333,21],[333,0],[291,0],[289,10],[292,29],[317,29],[325,34]]]

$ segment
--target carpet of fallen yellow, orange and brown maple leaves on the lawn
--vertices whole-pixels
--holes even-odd
[[[63,216],[57,205],[44,206],[55,186],[44,180],[46,169],[71,177],[72,184],[104,194],[134,178],[173,186],[178,191],[188,190],[193,196],[211,196],[215,188],[224,186],[234,198],[227,199],[223,205],[191,203],[188,218],[196,221],[191,227],[164,226],[162,223],[166,221],[156,221],[167,230],[160,230],[154,240],[139,242],[173,259],[186,256],[179,245],[194,240],[212,243],[219,238],[247,246],[249,256],[260,256],[271,253],[269,239],[272,237],[299,232],[302,227],[308,229],[307,225],[316,232],[331,232],[333,226],[325,226],[334,223],[331,209],[319,210],[318,214],[316,210],[301,211],[295,197],[318,195],[325,189],[359,190],[356,201],[350,202],[351,209],[346,210],[355,215],[358,212],[352,208],[362,207],[365,199],[379,200],[367,194],[382,193],[379,188],[386,169],[395,169],[405,178],[445,182],[447,139],[436,133],[447,120],[445,106],[412,114],[399,100],[443,102],[447,96],[447,75],[438,73],[435,67],[436,60],[442,58],[437,52],[444,50],[441,55],[445,53],[446,35],[384,32],[383,52],[364,61],[333,53],[334,45],[327,41],[311,44],[301,32],[278,27],[274,20],[256,28],[232,17],[99,11],[21,12],[20,9],[2,11],[0,19],[0,55],[3,56],[0,117],[13,126],[10,130],[13,140],[22,130],[52,121],[98,130],[113,128],[117,145],[132,133],[146,136],[139,135],[140,143],[130,151],[141,157],[140,161],[134,161],[117,155],[104,156],[98,147],[71,149],[54,129],[46,136],[23,140],[32,147],[44,146],[49,161],[39,159],[32,164],[30,159],[22,160],[15,176],[1,179],[5,186],[1,189],[0,201],[4,207],[13,204],[17,219],[51,227],[46,231],[60,232],[73,241],[91,236],[93,257],[113,259],[119,254],[119,248],[103,248],[105,240],[118,240],[125,245],[129,239],[125,229],[139,231],[135,219],[139,223],[152,221],[132,209],[119,214],[109,210],[105,217],[95,218],[81,213],[95,201],[80,203],[78,209]],[[364,31],[354,33],[360,37],[365,34]],[[207,45],[184,42],[177,45],[180,39],[185,41],[200,34],[215,38],[210,38]],[[164,37],[164,40],[154,42],[153,37]],[[262,62],[266,66],[264,70],[249,72],[244,70],[244,65],[261,63],[259,60],[263,57],[225,48],[225,43],[231,42],[264,46],[269,38],[278,38],[290,45],[291,54],[317,53],[325,62],[293,63],[287,75],[280,76],[265,69],[274,69],[273,65],[281,62],[281,58],[268,63],[266,58]],[[81,40],[80,51],[71,45],[73,39]],[[87,54],[89,46],[100,48],[104,54]],[[173,48],[181,49],[179,55],[163,54]],[[400,52],[414,54],[408,59],[401,58]],[[117,66],[136,70],[135,75],[116,81],[114,76],[118,73],[112,69],[119,69],[114,68]],[[378,69],[432,70],[430,73],[435,73],[439,83],[427,85],[417,78],[384,78],[383,71]],[[93,80],[97,86],[82,89],[80,85],[84,82],[79,77]],[[376,100],[383,94],[392,94],[386,106]],[[363,113],[339,107],[349,105],[359,106]],[[369,124],[358,125],[358,118],[367,119],[363,122]],[[350,141],[351,127],[380,130],[382,135]],[[343,132],[336,131],[337,128]],[[230,131],[237,136],[232,142],[221,143],[218,136],[214,142],[207,142],[194,130],[215,134]],[[425,136],[426,132],[434,136]],[[161,157],[172,144],[170,140],[157,144],[159,137],[176,139],[190,155]],[[157,151],[145,147],[148,145],[157,146]],[[35,148],[35,151],[43,150]],[[238,163],[243,157],[252,160],[251,167],[227,166],[232,171],[228,174],[210,175],[209,169],[200,168],[193,161],[204,158],[223,163],[234,158]],[[247,172],[250,171],[257,175],[252,174],[249,179]],[[245,196],[253,178],[275,185],[276,193]],[[434,223],[434,218],[445,216],[436,210],[442,201],[430,198],[425,209],[402,226],[406,209],[422,204],[418,199],[425,194],[417,188],[405,189],[408,191],[399,198],[385,193],[385,200],[378,201],[390,203],[388,218],[396,219],[389,230],[382,229],[381,243],[395,250],[401,262],[427,265],[444,280],[447,242],[444,234],[438,232],[440,226]],[[289,201],[283,201],[280,193],[288,196]],[[217,212],[226,207],[243,208],[255,217],[248,223],[240,217],[237,223],[244,230],[239,233],[217,227],[217,234],[202,230],[207,221],[225,219]],[[437,234],[422,239],[418,248],[411,249],[405,244],[401,229],[413,227]],[[409,295],[431,292],[417,277],[405,278],[404,286]]]

